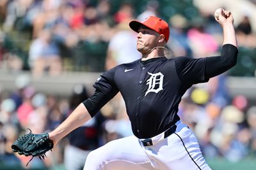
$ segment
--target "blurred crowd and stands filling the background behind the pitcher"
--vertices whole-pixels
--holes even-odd
[[[120,94],[70,133],[45,160],[14,154],[20,134],[49,132],[94,92],[99,75],[140,59],[131,20],[170,24],[167,57],[220,55],[216,8],[232,11],[236,67],[191,87],[179,116],[212,169],[256,169],[255,0],[1,0],[0,169],[83,169],[91,150],[132,134]],[[97,158],[96,158],[97,159]]]

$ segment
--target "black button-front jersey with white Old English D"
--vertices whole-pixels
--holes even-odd
[[[211,62],[221,60],[226,63],[225,59],[230,57],[209,58]],[[205,77],[205,67],[211,62],[207,63],[207,59],[159,57],[144,62],[136,60],[121,64],[100,76],[93,85],[96,89],[95,96],[85,101],[84,105],[93,115],[97,111],[92,109],[95,104],[100,108],[120,91],[134,135],[138,138],[151,138],[179,120],[178,106],[186,90],[195,83],[209,80],[209,77]],[[225,67],[228,68],[229,65]],[[207,73],[213,74],[216,71],[211,69]]]

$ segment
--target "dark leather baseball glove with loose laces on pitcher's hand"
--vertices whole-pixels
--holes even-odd
[[[53,142],[49,139],[49,134],[33,134],[30,129],[29,131],[29,134],[20,136],[13,143],[13,152],[18,152],[19,155],[25,155],[26,157],[31,155],[31,160],[34,157],[39,157],[41,160],[45,159],[45,153],[53,148]]]

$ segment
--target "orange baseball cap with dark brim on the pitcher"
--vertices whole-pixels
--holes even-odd
[[[144,25],[145,27],[148,27],[149,29],[156,31],[158,34],[163,34],[166,42],[168,41],[170,36],[169,25],[161,18],[149,16],[145,18],[143,22],[139,22],[138,20],[132,20],[129,23],[129,26],[135,32],[138,32],[141,25]]]

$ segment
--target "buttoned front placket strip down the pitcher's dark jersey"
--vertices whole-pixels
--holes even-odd
[[[140,101],[143,98],[143,92],[142,92],[142,88],[143,88],[143,80],[145,78],[145,67],[140,67],[141,71],[140,71],[140,78],[139,78],[139,82],[138,82],[138,97],[137,97],[137,105],[136,105],[136,113],[135,113],[135,121],[136,121],[136,132],[138,133],[138,136],[140,135],[140,118],[139,118],[139,109],[140,109]]]

